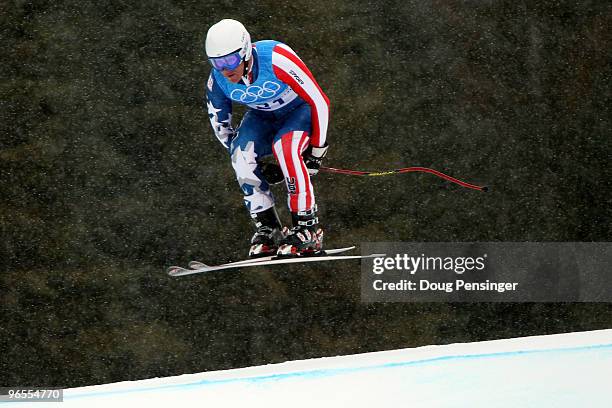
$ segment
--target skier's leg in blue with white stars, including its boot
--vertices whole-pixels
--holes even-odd
[[[276,253],[282,238],[280,220],[274,208],[274,196],[259,165],[260,159],[272,154],[273,135],[272,125],[249,111],[230,147],[232,166],[256,228],[251,238],[251,257]]]

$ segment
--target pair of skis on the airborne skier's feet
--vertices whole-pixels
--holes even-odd
[[[375,258],[384,256],[383,254],[372,254],[372,255],[337,255],[342,252],[350,251],[355,247],[337,248],[325,250],[322,255],[317,256],[306,256],[306,257],[277,257],[277,256],[266,256],[262,258],[245,259],[242,261],[230,262],[221,265],[206,265],[202,262],[192,261],[189,263],[191,269],[183,268],[180,266],[171,266],[167,272],[170,276],[185,276],[193,275],[196,273],[212,272],[224,269],[235,269],[235,268],[247,268],[253,266],[264,266],[264,265],[279,265],[289,263],[306,263],[306,262],[322,262],[322,261],[340,261],[347,259],[362,259],[362,258]]]

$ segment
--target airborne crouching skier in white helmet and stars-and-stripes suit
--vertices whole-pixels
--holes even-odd
[[[327,153],[329,99],[291,48],[272,40],[251,43],[236,20],[210,27],[205,46],[213,67],[206,86],[208,116],[228,150],[256,228],[249,256],[320,253],[323,230],[310,176]],[[237,129],[232,126],[233,102],[248,107]],[[261,159],[271,155],[280,170],[278,165],[264,167]],[[270,191],[270,184],[283,178],[290,230],[282,228]]]

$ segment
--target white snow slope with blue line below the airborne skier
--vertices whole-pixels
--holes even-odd
[[[426,346],[74,388],[65,391],[61,407],[136,404],[147,408],[610,408],[612,330]]]

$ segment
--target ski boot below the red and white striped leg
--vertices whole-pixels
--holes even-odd
[[[323,230],[319,228],[316,207],[291,213],[293,227],[283,231],[278,256],[314,256],[323,252]]]

